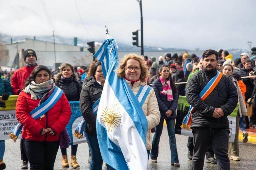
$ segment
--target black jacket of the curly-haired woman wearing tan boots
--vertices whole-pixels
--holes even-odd
[[[56,85],[64,91],[68,101],[79,101],[82,85],[73,77],[70,79],[61,78],[56,82]]]

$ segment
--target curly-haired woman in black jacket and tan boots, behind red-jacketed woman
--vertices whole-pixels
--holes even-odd
[[[55,76],[56,85],[64,91],[68,101],[79,101],[80,93],[82,90],[81,83],[77,81],[77,74],[74,73],[74,66],[69,63],[63,63],[59,67],[60,72]],[[77,163],[76,145],[71,145],[71,166],[73,168],[80,167]],[[69,167],[67,148],[60,148],[62,154],[62,167]]]

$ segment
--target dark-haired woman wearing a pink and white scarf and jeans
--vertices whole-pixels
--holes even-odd
[[[158,145],[165,119],[171,150],[171,165],[179,166],[174,130],[176,108],[178,106],[178,93],[169,70],[170,68],[168,67],[168,65],[162,65],[159,68],[157,79],[152,84],[152,88],[154,89],[156,94],[159,111],[161,113],[161,119],[160,123],[156,126],[156,133],[153,137],[151,159],[152,162],[157,162]]]

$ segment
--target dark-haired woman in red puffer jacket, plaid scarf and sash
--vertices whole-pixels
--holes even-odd
[[[35,108],[41,109],[34,112]],[[22,138],[31,169],[54,168],[60,133],[70,115],[68,100],[50,78],[50,70],[46,66],[36,66],[16,103],[16,117],[23,125]]]

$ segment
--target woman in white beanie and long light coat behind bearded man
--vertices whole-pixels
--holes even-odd
[[[231,64],[225,64],[223,66],[223,70],[222,73],[228,77],[231,78],[233,84],[236,86],[237,88],[237,94],[238,94],[238,102],[239,102],[239,106],[238,106],[238,112],[237,112],[237,116],[236,116],[236,135],[235,135],[235,140],[234,142],[229,142],[229,159],[233,160],[233,161],[240,161],[239,158],[239,148],[238,148],[238,133],[239,133],[239,119],[242,115],[247,116],[247,109],[246,106],[244,104],[244,100],[243,100],[243,95],[241,92],[241,89],[239,87],[238,81],[233,77],[232,75],[233,72],[233,66]],[[238,71],[237,71],[238,72]],[[243,132],[243,136],[248,136],[248,133],[246,131]]]

